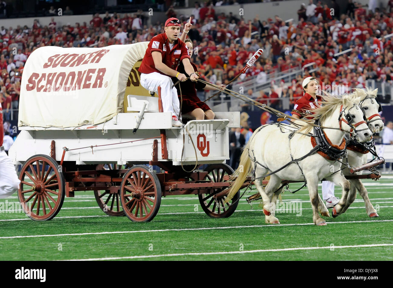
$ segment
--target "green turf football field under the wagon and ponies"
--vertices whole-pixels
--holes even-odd
[[[357,195],[345,214],[324,218],[327,226],[312,224],[307,188],[281,194],[285,207],[294,201],[298,210],[276,213],[280,225],[265,224],[261,207],[251,210],[245,197],[231,217],[212,219],[197,196],[170,196],[151,222],[134,223],[106,216],[92,192],[78,192],[51,221],[0,213],[0,259],[393,260],[393,177],[363,183],[380,217],[369,218]],[[17,202],[17,195],[0,203],[6,201]]]

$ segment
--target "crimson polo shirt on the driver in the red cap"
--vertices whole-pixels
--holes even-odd
[[[147,46],[145,56],[143,57],[141,66],[138,71],[144,74],[149,74],[152,72],[158,72],[162,75],[165,75],[154,65],[154,60],[151,55],[152,52],[158,51],[162,55],[162,63],[167,65],[169,68],[176,70],[180,61],[187,58],[190,59],[188,54],[188,49],[185,43],[178,39],[174,42],[174,46],[171,51],[169,51],[169,42],[168,37],[165,33],[158,34],[154,36]],[[168,75],[165,75],[168,76]]]

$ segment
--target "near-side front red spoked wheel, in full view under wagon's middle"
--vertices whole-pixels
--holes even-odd
[[[161,185],[157,175],[143,165],[130,168],[121,182],[120,201],[130,220],[151,221],[161,205]]]

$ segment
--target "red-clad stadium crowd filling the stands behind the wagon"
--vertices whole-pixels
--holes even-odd
[[[263,48],[263,56],[242,74],[241,81],[255,76],[257,83],[264,83],[268,74],[312,62],[318,67],[312,76],[324,85],[351,89],[363,87],[367,79],[392,81],[393,45],[390,38],[383,36],[392,33],[393,0],[383,12],[378,7],[367,10],[351,0],[346,11],[339,11],[338,5],[328,7],[310,0],[301,5],[297,17],[294,14],[297,24],[285,22],[279,15],[247,19],[232,13],[216,13],[215,7],[204,2],[195,4],[192,15],[181,15],[173,6],[166,12],[168,17],[178,17],[184,24],[191,16],[193,28],[188,34],[194,47],[191,61],[201,77],[210,82],[228,83],[259,48]],[[35,20],[31,27],[1,27],[0,101],[4,121],[11,119],[11,109],[18,109],[24,63],[35,49],[46,45],[105,47],[149,41],[162,33],[163,23],[147,25],[147,17],[143,11],[106,13],[103,17],[95,14],[90,22],[72,25],[59,26],[51,18],[48,24]],[[382,40],[378,40],[380,37]],[[349,48],[353,48],[350,53],[334,56]],[[288,97],[293,104],[303,95],[302,79],[299,75],[291,83],[275,83],[269,92],[251,90],[248,94],[261,103],[270,99],[270,105],[281,108],[278,98]],[[12,116],[17,118],[17,111]]]

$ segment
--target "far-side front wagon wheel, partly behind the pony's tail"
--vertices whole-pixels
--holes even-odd
[[[224,176],[232,175],[234,172],[233,169],[226,164],[211,164],[204,171],[208,172],[204,180],[213,182],[224,182]],[[214,188],[209,189],[209,193],[207,194],[198,194],[202,210],[212,218],[227,218],[231,216],[239,204],[237,200],[240,197],[240,190],[233,196],[231,203],[235,204],[231,206],[229,203],[225,203],[226,196],[214,199],[213,196],[222,190],[222,188]]]

